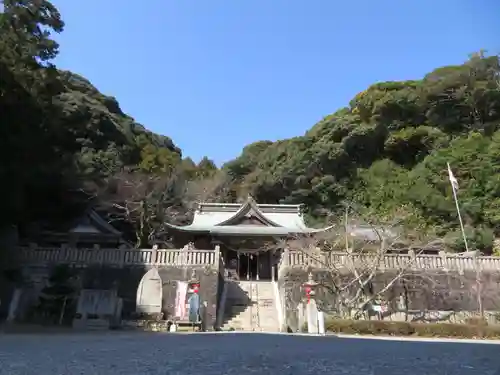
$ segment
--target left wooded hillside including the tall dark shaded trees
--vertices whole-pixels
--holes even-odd
[[[147,131],[115,98],[51,64],[50,32],[64,22],[49,1],[3,1],[0,12],[0,224],[79,206],[84,179],[123,167],[168,172],[181,160],[171,139]]]

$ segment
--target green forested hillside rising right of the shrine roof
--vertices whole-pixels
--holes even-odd
[[[370,217],[405,216],[439,235],[458,228],[446,163],[470,236],[500,231],[500,76],[473,55],[423,79],[383,82],[304,136],[247,146],[224,168],[260,202],[305,203],[318,217],[355,203]]]

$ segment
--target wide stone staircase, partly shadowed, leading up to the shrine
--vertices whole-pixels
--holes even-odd
[[[278,332],[271,281],[230,281],[222,330]]]

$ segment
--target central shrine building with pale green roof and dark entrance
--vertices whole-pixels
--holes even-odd
[[[328,228],[309,228],[301,205],[257,204],[249,196],[239,203],[200,203],[191,224],[166,224],[176,247],[198,249],[220,245],[225,268],[239,279],[276,276],[280,239],[311,235]]]

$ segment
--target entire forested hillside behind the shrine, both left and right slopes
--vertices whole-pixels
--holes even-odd
[[[251,193],[262,203],[305,204],[310,220],[335,217],[349,202],[365,218],[404,218],[420,232],[459,238],[449,162],[471,245],[490,250],[500,234],[496,56],[374,84],[304,136],[256,142],[218,170],[208,158],[183,159],[115,98],[51,64],[59,46],[49,32],[64,23],[50,1],[3,4],[0,226],[98,204],[129,225],[137,246],[148,246],[165,221],[188,221],[193,202]]]

